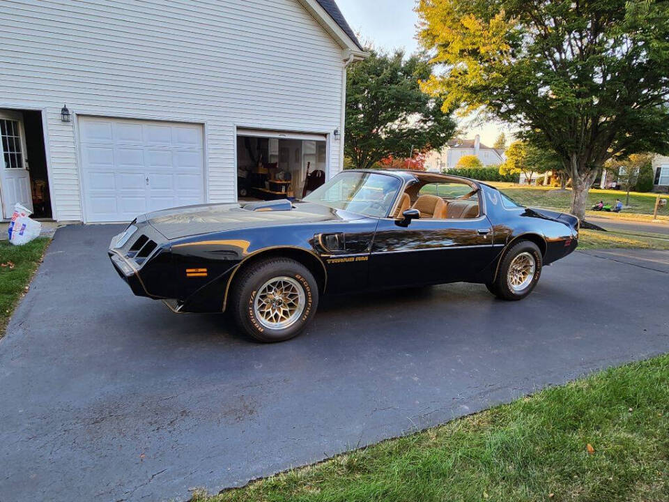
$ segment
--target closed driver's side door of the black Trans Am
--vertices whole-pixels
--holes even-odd
[[[436,190],[426,185],[419,195],[424,192]],[[385,218],[372,243],[369,282],[383,289],[472,280],[493,254],[493,228],[482,208],[475,218],[417,219],[406,226]]]

